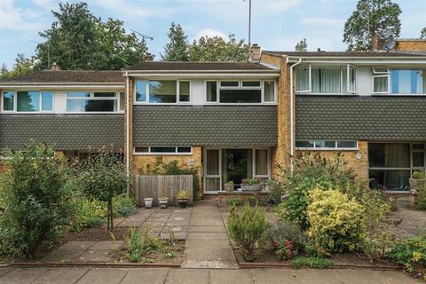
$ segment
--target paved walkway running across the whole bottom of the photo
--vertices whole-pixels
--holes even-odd
[[[402,272],[369,270],[1,268],[0,284],[418,284]]]

